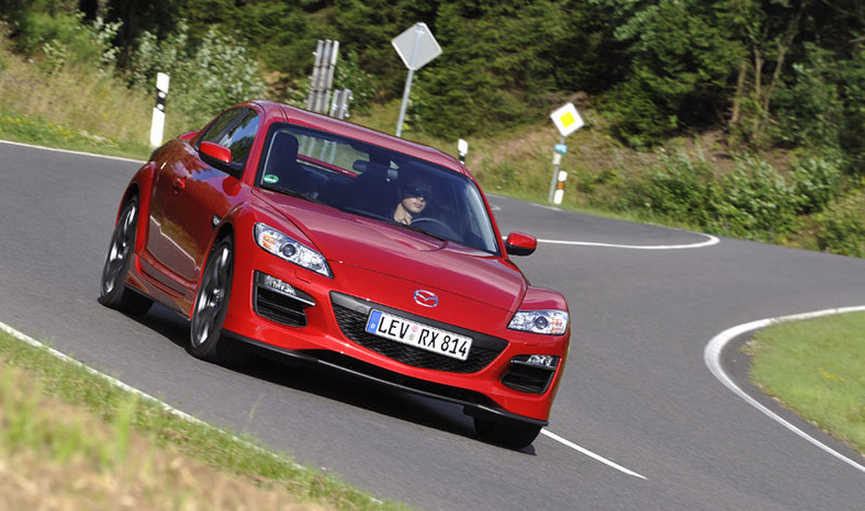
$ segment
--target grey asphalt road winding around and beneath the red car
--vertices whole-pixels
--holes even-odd
[[[491,196],[504,232],[542,240],[518,263],[533,284],[562,291],[573,318],[551,424],[515,452],[475,439],[458,407],[321,370],[262,361],[229,371],[189,356],[188,326],[165,308],[136,320],[99,305],[117,201],[137,167],[0,143],[0,321],[422,509],[864,506],[862,457],[783,410],[853,464],[766,417],[711,374],[704,350],[740,323],[865,305],[865,260]],[[741,355],[728,352],[741,374],[730,364]]]

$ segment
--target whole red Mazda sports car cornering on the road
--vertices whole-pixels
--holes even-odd
[[[564,370],[564,297],[532,287],[469,170],[436,149],[284,104],[234,106],[156,149],[120,203],[100,302],[464,407],[529,445]]]

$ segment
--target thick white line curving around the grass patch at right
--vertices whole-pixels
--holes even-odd
[[[721,367],[721,351],[723,350],[723,348],[731,340],[735,339],[737,337],[741,336],[742,333],[745,333],[745,332],[749,332],[749,331],[752,331],[752,330],[759,330],[761,328],[765,328],[765,327],[768,327],[771,325],[776,325],[776,323],[779,323],[779,322],[801,321],[801,320],[805,320],[805,319],[819,318],[819,317],[822,317],[822,316],[831,316],[831,315],[845,314],[845,313],[861,313],[861,311],[865,311],[865,306],[824,309],[824,310],[818,310],[818,311],[813,311],[813,313],[796,314],[796,315],[791,315],[791,316],[782,316],[782,317],[778,317],[778,318],[760,319],[760,320],[752,321],[752,322],[749,322],[749,323],[739,325],[737,327],[727,329],[727,330],[722,331],[721,333],[715,336],[715,338],[712,338],[711,341],[709,341],[709,343],[706,344],[706,349],[704,350],[704,361],[706,363],[706,366],[709,367],[709,371],[711,371],[711,373],[715,375],[715,377],[718,378],[724,386],[727,386],[727,388],[732,390],[733,394],[735,394],[740,398],[744,399],[745,402],[748,402],[749,405],[753,406],[757,410],[762,411],[763,413],[765,413],[766,416],[768,416],[769,418],[772,418],[773,420],[775,420],[776,422],[778,422],[779,424],[785,427],[786,429],[793,431],[794,433],[796,433],[797,435],[799,435],[802,439],[807,440],[808,442],[810,442],[811,444],[816,445],[817,447],[819,447],[819,448],[823,450],[824,452],[831,454],[832,456],[841,459],[842,462],[844,462],[847,465],[856,468],[857,470],[865,473],[865,466],[862,466],[858,463],[854,462],[853,459],[851,459],[851,458],[844,456],[843,454],[832,450],[831,447],[829,447],[828,445],[825,445],[822,442],[818,441],[817,439],[813,439],[813,438],[809,436],[808,433],[804,432],[799,428],[797,428],[797,427],[793,425],[791,423],[787,422],[780,416],[778,416],[774,411],[769,410],[768,408],[766,408],[765,406],[760,404],[753,397],[749,396],[744,390],[742,390],[732,381],[732,378],[730,378],[729,375],[727,375],[727,373],[723,372],[723,368]]]

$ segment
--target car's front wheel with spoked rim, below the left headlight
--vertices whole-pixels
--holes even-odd
[[[222,337],[222,325],[228,311],[234,274],[234,243],[226,237],[216,242],[207,257],[201,284],[192,307],[187,351],[193,356],[222,365],[238,365],[246,353]]]

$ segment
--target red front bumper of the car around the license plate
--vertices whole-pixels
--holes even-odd
[[[240,254],[237,258],[243,261]],[[236,271],[226,336],[353,374],[405,391],[462,405],[469,415],[495,416],[544,425],[564,368],[570,332],[560,338],[510,330],[503,337],[468,330],[345,292],[332,279],[299,279],[300,270],[261,264]],[[262,285],[272,275],[293,289],[274,293]],[[245,291],[240,291],[245,289]],[[294,293],[294,295],[292,295]],[[473,339],[467,361],[392,342],[364,331],[371,308]],[[504,338],[507,336],[507,339]],[[526,370],[521,355],[551,354],[550,371]]]

